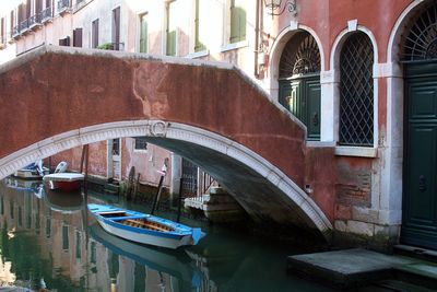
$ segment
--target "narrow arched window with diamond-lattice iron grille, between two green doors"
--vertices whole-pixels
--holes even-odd
[[[374,145],[374,49],[368,36],[354,33],[340,55],[340,144]]]

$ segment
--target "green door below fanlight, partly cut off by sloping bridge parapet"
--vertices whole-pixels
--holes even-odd
[[[280,80],[280,103],[307,127],[308,140],[320,139],[320,78]]]

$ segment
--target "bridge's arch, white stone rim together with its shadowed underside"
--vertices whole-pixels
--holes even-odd
[[[316,202],[262,156],[226,137],[180,122],[127,120],[63,132],[1,159],[0,178],[38,159],[74,147],[138,136],[145,136],[151,143],[192,160],[234,195],[256,221],[273,219],[282,224],[318,230],[323,235],[332,229]]]

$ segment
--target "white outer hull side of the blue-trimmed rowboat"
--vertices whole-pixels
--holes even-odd
[[[97,222],[106,232],[135,243],[150,244],[154,246],[162,246],[174,249],[178,248],[179,246],[192,244],[190,234],[179,237],[162,237],[152,234],[144,234],[134,231],[129,231],[125,227],[117,227],[115,225],[106,223],[104,220],[101,219],[97,219]]]

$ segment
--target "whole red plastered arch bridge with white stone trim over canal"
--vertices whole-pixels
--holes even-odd
[[[0,67],[0,178],[81,144],[147,136],[256,220],[328,234],[304,188],[306,129],[227,63],[44,46]]]

